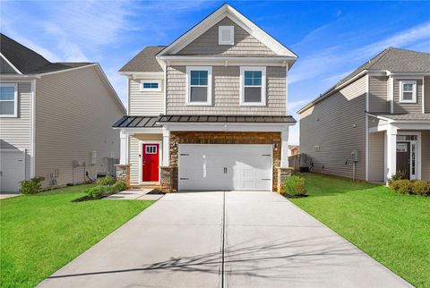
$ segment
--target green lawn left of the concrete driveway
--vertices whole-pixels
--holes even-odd
[[[73,203],[89,185],[0,201],[0,283],[33,287],[153,201]]]

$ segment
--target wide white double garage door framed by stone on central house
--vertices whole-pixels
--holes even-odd
[[[180,144],[179,190],[271,191],[271,145]]]

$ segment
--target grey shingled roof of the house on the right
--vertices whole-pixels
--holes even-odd
[[[430,54],[394,47],[388,47],[383,52],[375,55],[365,64],[359,66],[353,72],[350,72],[345,78],[333,85],[319,97],[316,97],[312,102],[301,108],[297,113],[305,111],[305,109],[314,106],[316,103],[329,97],[334,91],[343,87],[349,80],[364,74],[365,72],[389,72],[389,73],[408,73],[408,72],[430,72]]]

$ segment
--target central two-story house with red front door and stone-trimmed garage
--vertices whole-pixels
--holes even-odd
[[[272,191],[288,169],[288,70],[297,55],[228,4],[168,47],[146,47],[128,77],[121,163],[133,185]]]

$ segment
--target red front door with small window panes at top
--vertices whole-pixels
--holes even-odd
[[[159,144],[142,144],[142,182],[159,181]]]

